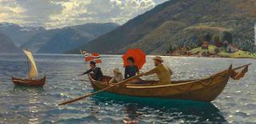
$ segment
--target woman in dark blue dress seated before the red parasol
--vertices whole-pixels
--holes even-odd
[[[139,74],[138,66],[134,62],[133,57],[126,59],[127,66],[125,67],[125,78],[134,77],[136,74]]]

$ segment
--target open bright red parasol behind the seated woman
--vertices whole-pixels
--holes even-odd
[[[140,49],[129,49],[126,54],[122,55],[123,66],[126,66],[126,59],[133,57],[135,64],[138,66],[138,69],[142,69],[142,66],[146,63],[146,54]]]

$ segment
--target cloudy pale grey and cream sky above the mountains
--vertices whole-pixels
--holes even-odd
[[[167,0],[0,0],[0,22],[47,29],[88,22],[116,22],[151,10]]]

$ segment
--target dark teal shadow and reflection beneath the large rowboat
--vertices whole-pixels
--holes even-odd
[[[93,97],[95,104],[119,104],[124,106],[124,122],[139,122],[143,114],[163,122],[217,122],[226,123],[222,112],[212,103],[162,98],[140,98],[104,92]]]

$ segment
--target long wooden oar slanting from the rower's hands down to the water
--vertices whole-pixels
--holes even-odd
[[[131,81],[131,80],[133,80],[133,79],[135,79],[135,78],[139,78],[140,76],[141,76],[141,75],[138,74],[138,75],[136,75],[136,76],[134,76],[134,77],[127,78],[126,80],[124,80],[124,81],[122,81],[122,82],[118,82],[118,83],[114,84],[113,86],[108,86],[108,87],[103,88],[102,90],[98,90],[98,91],[96,91],[96,92],[94,92],[94,93],[86,94],[86,95],[84,95],[84,96],[82,96],[82,97],[75,98],[75,99],[70,100],[70,101],[62,102],[62,103],[58,104],[58,106],[66,105],[66,104],[73,103],[73,102],[77,102],[77,101],[79,101],[79,100],[82,100],[82,98],[87,98],[87,97],[93,96],[94,94],[98,94],[98,93],[101,93],[102,91],[108,90],[108,89],[110,89],[110,88],[112,88],[112,87],[114,87],[114,86],[118,86],[118,85],[125,84],[125,83],[127,83],[127,82],[129,82],[129,81]]]

